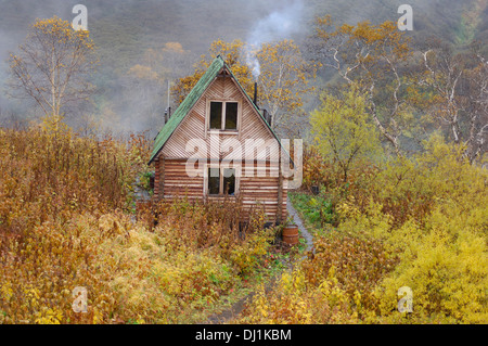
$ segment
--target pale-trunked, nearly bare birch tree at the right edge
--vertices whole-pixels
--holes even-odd
[[[477,52],[454,55],[448,47],[422,52],[420,85],[433,95],[425,102],[432,121],[457,144],[471,163],[483,156],[488,136],[488,62]]]

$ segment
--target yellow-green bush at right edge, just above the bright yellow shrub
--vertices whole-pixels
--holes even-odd
[[[485,202],[486,170],[471,165],[463,152],[462,145],[433,136],[423,153],[388,162],[377,175],[371,196],[395,226],[409,218],[423,220],[439,203],[454,203],[468,213]]]

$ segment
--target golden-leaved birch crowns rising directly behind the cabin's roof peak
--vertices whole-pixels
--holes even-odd
[[[313,90],[309,82],[316,77],[316,64],[308,63],[301,56],[293,40],[264,43],[255,50],[260,65],[258,76],[253,76],[252,66],[247,64],[248,52],[244,41],[214,41],[209,57],[202,56],[195,72],[176,82],[172,88],[175,101],[181,103],[211,61],[220,55],[247,94],[253,95],[254,82],[258,84],[258,105],[270,113],[271,128],[290,134],[293,130],[293,126],[288,126],[291,118],[304,115],[300,111],[304,95]]]

